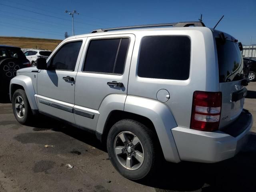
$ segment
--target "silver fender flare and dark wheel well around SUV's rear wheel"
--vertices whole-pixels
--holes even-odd
[[[110,128],[114,123],[122,119],[136,120],[153,129],[157,134],[164,158],[169,162],[180,162],[176,144],[171,132],[171,129],[177,127],[177,124],[172,112],[165,104],[147,98],[127,96],[124,110],[111,110],[108,113],[102,128],[97,124],[97,137],[101,138],[102,142],[104,142]]]

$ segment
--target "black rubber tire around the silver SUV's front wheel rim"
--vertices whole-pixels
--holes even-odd
[[[20,117],[18,116],[17,110],[20,111],[21,108],[16,110],[16,102],[18,102],[18,97],[20,97],[23,100],[24,104],[22,104],[22,102],[20,102],[20,104],[22,104],[22,109],[23,108],[25,109],[24,114],[22,113],[22,115]],[[20,100],[20,98],[19,98],[19,100]],[[14,92],[14,94],[12,96],[12,110],[13,110],[16,120],[20,124],[28,124],[28,122],[30,122],[30,120],[32,120],[32,116],[33,116],[32,110],[30,108],[28,98],[26,96],[26,92],[24,90],[18,89]]]

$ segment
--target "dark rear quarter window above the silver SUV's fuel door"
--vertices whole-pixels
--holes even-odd
[[[187,80],[190,70],[190,38],[148,36],[140,46],[138,76]]]

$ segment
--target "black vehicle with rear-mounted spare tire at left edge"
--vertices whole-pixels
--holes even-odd
[[[19,47],[0,45],[0,96],[9,92],[10,80],[16,76],[16,71],[30,66],[30,61]]]

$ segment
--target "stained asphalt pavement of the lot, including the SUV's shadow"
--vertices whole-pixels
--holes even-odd
[[[4,99],[0,192],[255,192],[256,82],[247,88],[244,108],[254,116],[254,126],[238,155],[215,164],[165,163],[152,178],[135,182],[116,172],[94,135],[43,116],[30,126],[21,125]]]

